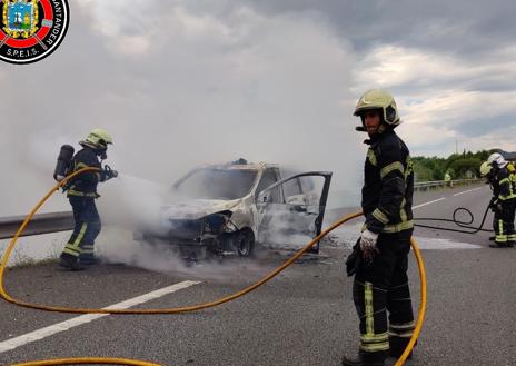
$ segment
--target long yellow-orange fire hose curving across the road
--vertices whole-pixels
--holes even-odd
[[[11,255],[11,251],[20,237],[20,235],[23,233],[24,228],[29,224],[29,221],[32,219],[32,217],[36,215],[36,212],[44,205],[44,202],[57,191],[59,190],[60,187],[64,186],[70,179],[73,177],[86,172],[86,171],[98,171],[99,169],[97,168],[83,168],[80,169],[68,177],[66,177],[63,180],[61,180],[59,184],[57,184],[39,202],[38,205],[30,211],[30,214],[27,216],[26,220],[21,224],[20,228],[16,233],[14,237],[10,241],[6,253],[3,254],[2,260],[0,263],[0,295],[1,297],[12,304],[27,307],[27,308],[33,308],[38,310],[46,310],[46,311],[57,311],[57,313],[70,313],[70,314],[132,314],[132,315],[143,315],[143,314],[179,314],[179,313],[191,313],[191,311],[197,311],[201,309],[206,309],[209,307],[215,307],[228,301],[231,301],[234,299],[237,299],[238,297],[241,297],[256,288],[260,287],[275,276],[277,276],[279,273],[285,270],[287,267],[289,267],[291,264],[294,264],[299,257],[301,257],[308,249],[310,249],[316,243],[318,243],[320,239],[326,237],[329,233],[335,230],[337,227],[340,225],[361,216],[361,212],[356,212],[356,214],[350,214],[347,215],[333,225],[330,225],[327,229],[325,229],[320,235],[318,235],[316,238],[314,238],[310,243],[308,243],[302,249],[297,251],[291,258],[286,260],[281,266],[279,266],[277,269],[272,270],[270,274],[258,280],[257,283],[252,284],[251,286],[234,294],[230,296],[222,297],[218,300],[211,301],[211,303],[205,303],[205,304],[199,304],[199,305],[194,305],[194,306],[185,306],[185,307],[178,307],[178,308],[170,308],[170,309],[138,309],[138,310],[131,310],[131,309],[95,309],[95,308],[69,308],[69,307],[53,307],[53,306],[46,306],[46,305],[39,305],[39,304],[31,304],[27,303],[23,300],[18,300],[12,298],[7,290],[3,287],[3,274],[7,268],[7,264],[9,261],[9,257]],[[417,246],[416,240],[413,238],[410,241],[414,254],[416,256],[416,260],[419,267],[419,277],[420,277],[420,287],[421,287],[421,301],[419,305],[419,315],[416,324],[416,328],[414,330],[414,335],[410,338],[410,342],[407,345],[407,348],[405,349],[404,354],[401,357],[397,360],[395,366],[403,366],[410,353],[410,350],[414,348],[414,345],[419,337],[419,334],[421,332],[424,318],[425,318],[425,313],[426,313],[426,273],[425,273],[425,265],[423,261],[421,254],[419,251],[419,248]],[[115,365],[145,365],[145,366],[152,366],[156,364],[151,363],[146,363],[146,362],[139,362],[139,360],[128,360],[128,359],[120,359],[120,358],[69,358],[69,359],[53,359],[53,360],[43,360],[43,362],[32,362],[32,363],[24,363],[24,364],[17,364],[12,366],[37,366],[37,365],[79,365],[79,364],[115,364]]]

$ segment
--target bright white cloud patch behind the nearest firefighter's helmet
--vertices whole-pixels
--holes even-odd
[[[447,156],[455,152],[457,140],[472,150],[509,147],[514,139],[499,130],[505,129],[505,116],[516,113],[516,90],[497,90],[496,86],[516,78],[516,52],[508,47],[493,53],[493,59],[479,62],[415,48],[379,46],[359,62],[353,90],[391,91],[406,121],[400,131],[417,154]],[[499,123],[493,123],[497,119]],[[470,130],[479,132],[472,137]]]

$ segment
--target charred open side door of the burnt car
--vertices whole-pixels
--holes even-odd
[[[321,231],[331,172],[282,179],[258,194],[258,241],[299,248]],[[311,253],[319,251],[317,243]]]

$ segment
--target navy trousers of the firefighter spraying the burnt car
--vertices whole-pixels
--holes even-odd
[[[73,210],[73,233],[64,246],[63,254],[88,261],[93,259],[95,239],[100,233],[100,216],[95,205],[95,198],[70,196]]]

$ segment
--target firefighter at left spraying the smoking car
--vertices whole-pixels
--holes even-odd
[[[111,136],[97,128],[79,142],[82,149],[72,159],[71,169],[99,168],[100,171],[87,171],[73,178],[67,187],[67,197],[73,210],[75,227],[70,240],[62,250],[59,265],[71,270],[80,270],[82,265],[93,265],[99,259],[93,255],[95,239],[100,233],[101,224],[95,200],[97,184],[118,176],[116,170],[101,168],[101,160],[107,158]],[[100,160],[99,160],[100,159]]]

